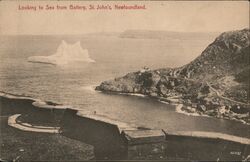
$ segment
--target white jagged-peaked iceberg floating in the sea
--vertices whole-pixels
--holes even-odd
[[[64,65],[74,61],[95,62],[95,60],[89,57],[88,50],[82,49],[80,42],[67,44],[64,40],[57,48],[55,54],[50,56],[31,56],[28,58],[28,61],[53,65]]]

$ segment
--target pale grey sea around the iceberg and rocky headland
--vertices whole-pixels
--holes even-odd
[[[117,35],[2,36],[0,90],[71,105],[129,124],[171,131],[213,131],[249,137],[250,126],[212,117],[188,116],[148,97],[97,92],[104,80],[149,68],[177,67],[197,57],[215,38],[131,39]],[[81,42],[95,63],[63,66],[31,63],[30,56],[48,56],[61,41]]]

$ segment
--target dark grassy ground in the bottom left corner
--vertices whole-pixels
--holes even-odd
[[[94,158],[91,145],[60,134],[25,132],[8,126],[1,116],[0,161],[77,161]]]

